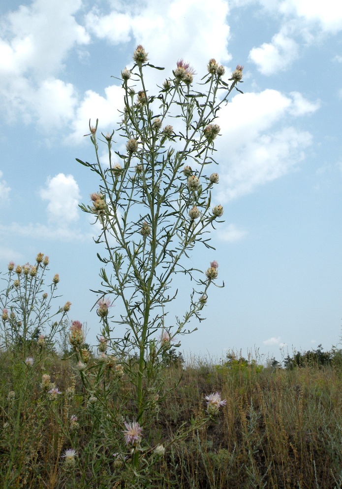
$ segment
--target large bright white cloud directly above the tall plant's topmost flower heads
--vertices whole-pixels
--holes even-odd
[[[120,10],[116,5],[105,15],[93,9],[87,15],[87,28],[114,44],[133,38],[149,52],[153,65],[166,68],[162,74],[165,77],[180,58],[189,61],[198,72],[204,70],[210,58],[215,57],[220,63],[230,61],[228,13],[228,2],[224,0],[212,0],[210,8],[207,0],[147,0],[139,8],[127,2]],[[147,76],[150,75],[160,76],[153,70]]]

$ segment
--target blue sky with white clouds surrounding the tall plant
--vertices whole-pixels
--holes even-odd
[[[205,74],[216,58],[244,68],[218,121],[225,223],[215,252],[223,289],[182,340],[194,354],[330,349],[342,324],[342,4],[333,0],[14,1],[0,5],[0,268],[49,255],[61,304],[87,321],[100,263],[78,204],[98,189],[75,158],[93,158],[88,121],[111,131],[120,76],[137,44],[170,76],[184,58]],[[151,72],[152,73],[152,72]],[[227,76],[227,78],[229,75]],[[186,296],[188,284],[182,295]],[[173,314],[186,305],[180,299]],[[170,313],[171,314],[171,313]]]

